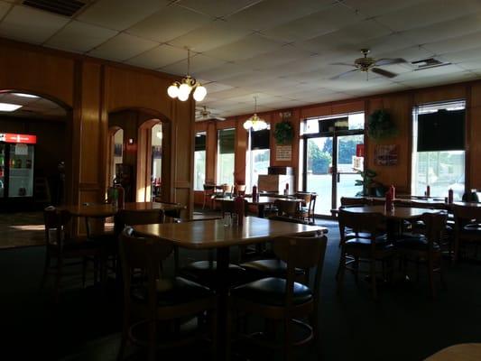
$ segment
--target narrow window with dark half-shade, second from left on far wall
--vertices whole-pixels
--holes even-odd
[[[235,129],[217,132],[217,184],[234,184],[235,137]]]

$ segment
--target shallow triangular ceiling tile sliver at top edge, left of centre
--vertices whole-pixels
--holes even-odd
[[[212,0],[180,0],[176,5],[190,8],[212,17],[222,17],[237,12],[258,3],[259,0],[212,1]]]

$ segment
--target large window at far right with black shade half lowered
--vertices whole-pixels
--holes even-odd
[[[465,191],[465,101],[416,106],[412,125],[412,194],[454,199]]]

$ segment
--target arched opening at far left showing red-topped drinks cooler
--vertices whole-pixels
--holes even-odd
[[[72,197],[71,109],[28,90],[0,91],[0,202],[43,208]]]

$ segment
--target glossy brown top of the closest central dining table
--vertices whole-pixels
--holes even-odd
[[[169,240],[183,248],[212,249],[231,245],[262,243],[277,236],[297,236],[326,227],[308,226],[282,222],[266,218],[245,217],[244,225],[224,226],[222,219],[134,226],[134,230],[144,236],[154,236]]]

